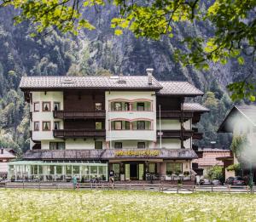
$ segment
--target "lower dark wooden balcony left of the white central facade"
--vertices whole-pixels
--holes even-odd
[[[55,129],[55,138],[105,137],[105,129]]]

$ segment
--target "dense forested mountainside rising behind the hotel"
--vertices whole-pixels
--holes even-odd
[[[206,94],[196,101],[206,105],[211,112],[201,117],[198,127],[205,133],[199,142],[201,147],[229,148],[230,137],[217,134],[232,101],[225,86],[239,79],[247,71],[232,61],[227,65],[212,64],[210,71],[199,71],[175,63],[173,49],[177,40],[188,31],[202,36],[211,26],[177,26],[175,37],[163,37],[160,41],[137,39],[131,33],[114,36],[110,20],[115,10],[91,9],[91,22],[95,31],[79,33],[79,36],[61,35],[52,31],[46,36],[31,37],[33,27],[23,22],[14,26],[13,9],[0,9],[0,146],[13,147],[19,153],[29,144],[29,112],[20,92],[22,76],[39,75],[144,75],[145,69],[154,68],[159,80],[183,80],[195,84]]]

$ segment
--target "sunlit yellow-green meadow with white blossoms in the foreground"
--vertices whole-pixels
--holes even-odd
[[[0,190],[0,221],[256,221],[256,196]]]

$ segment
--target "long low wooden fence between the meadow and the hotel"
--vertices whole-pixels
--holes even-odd
[[[171,193],[194,193],[194,192],[228,192],[228,193],[250,193],[250,187],[235,185],[170,185],[170,184],[148,184],[148,183],[81,183],[74,187],[73,183],[46,183],[46,182],[8,182],[0,183],[0,188],[16,189],[77,189],[77,190],[120,190],[120,191],[161,191]],[[253,191],[255,187],[253,187]]]

